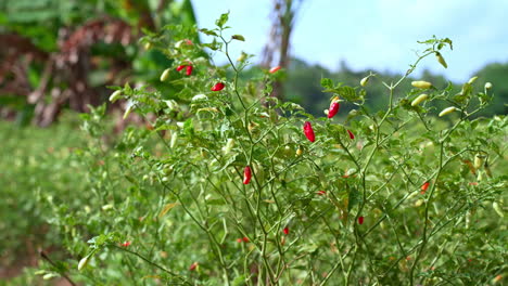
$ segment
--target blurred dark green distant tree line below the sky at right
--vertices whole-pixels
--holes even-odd
[[[478,76],[477,84],[484,84],[492,82],[493,84],[493,103],[480,112],[477,116],[494,116],[506,115],[507,107],[505,103],[508,100],[508,92],[506,88],[506,76],[508,75],[508,64],[491,64],[473,74]],[[321,78],[338,79],[348,86],[357,86],[361,78],[368,75],[369,70],[354,72],[345,63],[342,63],[341,68],[336,72],[329,70],[319,65],[309,65],[299,58],[291,61],[291,66],[288,68],[284,77],[285,99],[294,103],[299,103],[305,107],[314,116],[322,116],[322,106],[327,104],[330,94],[320,92]],[[386,72],[372,70],[379,79],[384,82],[395,82],[402,75],[390,74]],[[432,74],[429,70],[423,70],[421,79],[432,82],[435,87],[444,89],[448,86],[448,80],[442,76]],[[410,81],[416,78],[409,78],[407,82],[401,82],[398,92],[395,96],[404,96],[411,89]],[[462,82],[463,83],[463,82]],[[453,82],[452,92],[460,92],[462,83]],[[388,104],[386,96],[383,96],[385,88],[382,84],[368,84],[365,87],[367,91],[365,106],[372,112],[380,110]],[[432,102],[434,107],[443,108],[445,105]],[[353,105],[343,106],[345,112],[354,108]],[[346,113],[344,113],[346,114]]]

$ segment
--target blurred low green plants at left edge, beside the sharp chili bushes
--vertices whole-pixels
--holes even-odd
[[[85,166],[73,155],[85,138],[76,119],[64,118],[66,125],[48,130],[0,122],[1,268],[23,266],[37,260],[40,249],[60,247],[59,232],[47,223],[54,212],[45,202],[77,208],[81,202],[69,198],[88,190]]]

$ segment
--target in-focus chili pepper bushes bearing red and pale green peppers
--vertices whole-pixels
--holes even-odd
[[[148,126],[111,138],[105,106],[82,115],[90,141],[75,155],[89,191],[43,195],[69,253],[45,274],[93,285],[471,285],[505,271],[506,118],[471,119],[491,91],[398,92],[447,39],[429,42],[394,83],[371,75],[368,84],[385,90],[380,110],[365,105],[363,87],[323,78],[321,89],[353,107],[338,120],[271,98],[277,73],[240,80],[249,62],[232,61],[228,48],[243,37],[226,38],[226,22],[194,44],[181,44],[186,28],[165,27],[175,37],[162,51],[175,62],[163,79],[179,92],[117,87],[125,117],[137,113]],[[213,65],[205,47],[229,64]],[[191,75],[175,70],[190,64]],[[411,105],[423,92],[429,99]],[[437,119],[433,103],[457,110]]]

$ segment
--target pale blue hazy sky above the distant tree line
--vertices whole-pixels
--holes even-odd
[[[258,55],[268,40],[271,0],[192,0],[200,27],[213,28],[230,11],[240,51]],[[303,0],[291,38],[291,55],[332,70],[345,61],[353,70],[404,73],[423,50],[417,41],[450,38],[442,52],[448,68],[431,56],[426,68],[454,81],[467,81],[488,63],[508,62],[508,0]],[[217,60],[221,62],[221,58]],[[418,73],[416,73],[418,76]]]

